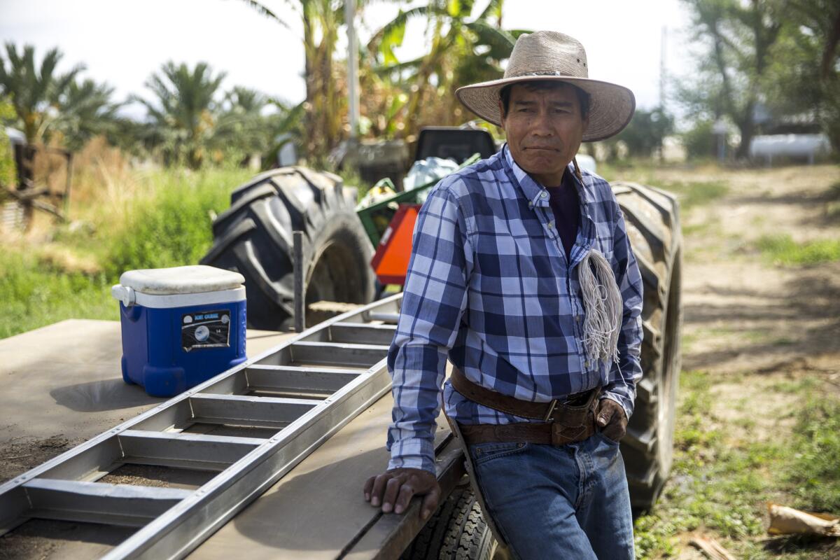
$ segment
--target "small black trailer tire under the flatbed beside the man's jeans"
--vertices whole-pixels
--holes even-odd
[[[490,560],[496,539],[470,486],[459,486],[402,553],[402,560]]]

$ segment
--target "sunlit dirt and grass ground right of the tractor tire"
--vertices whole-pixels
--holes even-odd
[[[695,203],[683,211],[675,471],[658,508],[637,523],[639,556],[700,558],[686,543],[701,533],[737,557],[840,558],[836,542],[765,532],[765,501],[803,500],[790,447],[801,410],[840,399],[840,169],[650,174]],[[834,477],[827,488],[840,493]],[[840,496],[800,506],[825,504]]]

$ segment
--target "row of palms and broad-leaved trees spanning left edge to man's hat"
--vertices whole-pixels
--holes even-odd
[[[288,23],[259,2],[245,2],[281,26]],[[344,26],[344,3],[301,0],[291,3],[301,18],[306,58],[306,98],[297,105],[242,86],[223,89],[223,71],[200,62],[166,62],[145,82],[147,95],[113,100],[113,87],[82,79],[83,65],[56,70],[62,54],[48,51],[40,60],[31,45],[5,45],[0,52],[0,95],[12,108],[7,124],[21,128],[29,143],[58,141],[81,149],[103,135],[132,154],[153,155],[166,165],[198,168],[231,157],[271,154],[289,141],[312,165],[325,164],[330,151],[349,135],[347,74],[336,50]],[[362,99],[360,135],[406,138],[423,124],[459,124],[471,115],[447,93],[471,81],[501,77],[521,30],[501,27],[503,0],[491,0],[474,14],[471,0],[431,0],[400,10],[360,45]],[[364,9],[365,2],[360,2]],[[426,55],[396,60],[407,23],[426,22]],[[144,106],[137,122],[120,116],[129,102]]]

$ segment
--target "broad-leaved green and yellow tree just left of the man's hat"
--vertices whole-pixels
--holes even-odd
[[[452,92],[477,81],[499,78],[501,62],[513,50],[522,30],[501,29],[504,0],[491,0],[477,17],[472,17],[475,0],[430,0],[426,6],[402,10],[368,43],[380,66],[377,71],[407,87],[409,96],[402,109],[403,132],[412,135],[423,123],[455,124],[465,120]],[[402,44],[406,24],[426,18],[428,53],[400,62],[393,49]]]

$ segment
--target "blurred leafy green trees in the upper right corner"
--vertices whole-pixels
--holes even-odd
[[[780,119],[789,130],[818,126],[840,151],[840,0],[682,2],[698,53],[675,90],[696,128],[732,123],[739,159]]]

